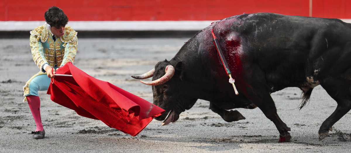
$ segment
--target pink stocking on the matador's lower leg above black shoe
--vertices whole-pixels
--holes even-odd
[[[43,124],[41,123],[41,117],[40,117],[40,99],[39,99],[39,96],[29,95],[29,96],[27,96],[27,101],[28,101],[29,108],[32,111],[32,115],[33,115],[35,124],[37,125],[37,129],[35,129],[35,131],[42,131],[42,130],[44,130]]]

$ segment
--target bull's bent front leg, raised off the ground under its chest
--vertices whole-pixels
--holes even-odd
[[[241,115],[241,113],[239,111],[237,111],[237,110],[228,111],[228,110],[217,107],[212,102],[210,102],[210,109],[213,112],[220,115],[224,119],[224,121],[226,121],[226,122],[234,122],[234,121],[239,121],[241,119],[245,119],[245,117],[243,115]]]

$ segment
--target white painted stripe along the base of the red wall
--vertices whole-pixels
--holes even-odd
[[[351,19],[341,19],[351,23]],[[76,31],[202,30],[213,21],[69,21]],[[31,31],[45,21],[0,21],[0,31]]]

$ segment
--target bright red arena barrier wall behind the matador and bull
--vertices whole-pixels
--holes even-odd
[[[351,18],[349,0],[0,0],[0,21],[42,21],[50,6],[70,21],[201,21],[256,12]]]

